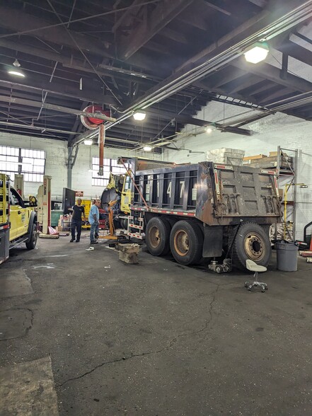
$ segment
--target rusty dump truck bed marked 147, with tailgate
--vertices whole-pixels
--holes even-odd
[[[200,162],[139,171],[134,180],[134,210],[194,216],[210,226],[280,217],[274,171]]]

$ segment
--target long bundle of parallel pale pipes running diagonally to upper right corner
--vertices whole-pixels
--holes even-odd
[[[108,122],[106,124],[106,129],[110,129],[111,127],[117,125],[118,123],[126,120],[127,118],[131,117],[136,110],[144,110],[149,108],[151,105],[158,103],[161,100],[172,96],[174,93],[177,93],[181,89],[190,85],[190,83],[197,81],[198,79],[202,79],[204,76],[207,76],[212,71],[216,71],[220,67],[228,64],[236,57],[241,56],[244,50],[253,45],[254,42],[259,40],[270,40],[272,37],[279,35],[280,33],[288,30],[289,28],[293,27],[294,25],[305,21],[308,17],[312,16],[312,0],[306,1],[301,6],[294,8],[293,10],[286,13],[284,16],[277,19],[277,21],[270,23],[265,28],[258,30],[253,35],[237,42],[236,45],[229,47],[224,52],[220,52],[216,54],[211,59],[207,59],[206,62],[197,65],[197,67],[190,69],[190,71],[185,72],[178,76],[178,78],[173,79],[172,81],[164,84],[159,88],[157,91],[150,93],[149,95],[145,96],[139,103],[132,105],[131,107],[127,108],[124,111],[117,110],[122,114],[121,117],[117,118],[115,122]],[[112,106],[111,106],[112,107]],[[113,108],[113,107],[112,107]],[[83,139],[87,137],[94,137],[95,133],[88,134]],[[83,140],[81,139],[81,140]]]

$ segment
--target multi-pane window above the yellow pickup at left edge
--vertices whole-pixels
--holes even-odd
[[[10,175],[20,173],[25,182],[42,182],[45,174],[45,151],[0,146],[0,171]]]

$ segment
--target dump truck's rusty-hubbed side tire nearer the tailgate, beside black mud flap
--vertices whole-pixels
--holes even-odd
[[[181,265],[200,263],[203,243],[202,230],[193,221],[178,221],[171,230],[171,253]]]

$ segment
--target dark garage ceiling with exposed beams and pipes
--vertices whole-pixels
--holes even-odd
[[[79,117],[89,104],[117,119],[106,143],[129,149],[216,122],[194,118],[209,101],[256,110],[253,120],[311,120],[312,83],[289,70],[289,59],[312,66],[311,16],[311,0],[11,0],[0,6],[0,131],[73,146],[94,134]],[[247,64],[243,51],[263,39],[281,60]],[[23,79],[7,72],[16,58]],[[248,135],[248,121],[216,127]]]

